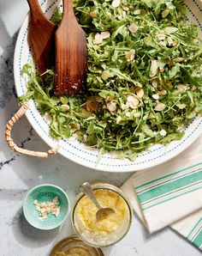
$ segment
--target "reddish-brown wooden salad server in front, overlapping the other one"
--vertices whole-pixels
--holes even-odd
[[[55,94],[80,94],[86,81],[86,34],[74,15],[73,1],[63,0],[63,14],[56,30]]]

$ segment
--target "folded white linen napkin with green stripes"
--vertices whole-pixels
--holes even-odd
[[[122,190],[150,233],[171,226],[202,250],[202,136],[173,160],[135,173]]]

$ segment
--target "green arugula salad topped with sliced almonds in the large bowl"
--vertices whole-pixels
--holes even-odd
[[[27,94],[50,119],[50,136],[75,135],[87,146],[135,156],[183,137],[202,113],[202,43],[181,0],[75,0],[86,31],[87,81],[82,94],[56,97],[54,70],[26,64]],[[56,10],[52,21],[59,23]]]

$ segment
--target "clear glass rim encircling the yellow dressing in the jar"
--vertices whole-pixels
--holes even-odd
[[[130,201],[128,199],[128,197],[124,194],[124,192],[122,192],[122,190],[120,188],[118,188],[117,186],[115,185],[112,185],[110,183],[105,183],[105,182],[102,182],[102,181],[98,181],[98,182],[92,182],[91,183],[91,186],[92,186],[92,190],[97,190],[97,189],[109,189],[113,192],[116,192],[118,193],[122,198],[123,200],[126,202],[126,204],[128,205],[128,210],[129,210],[129,222],[128,222],[128,228],[126,229],[126,232],[119,238],[117,239],[116,241],[113,241],[107,245],[96,245],[96,244],[93,244],[89,241],[86,241],[81,235],[80,235],[80,232],[79,230],[76,229],[75,225],[74,225],[74,211],[76,209],[76,206],[77,204],[79,204],[80,202],[80,199],[83,198],[85,196],[85,194],[83,192],[80,192],[79,195],[77,196],[77,198],[75,199],[75,203],[73,205],[73,208],[72,208],[72,213],[71,213],[71,222],[72,222],[72,227],[74,229],[74,232],[76,235],[79,236],[80,240],[86,242],[87,245],[91,246],[91,247],[110,247],[110,246],[113,246],[115,245],[117,242],[121,241],[127,234],[128,234],[128,231],[131,227],[131,223],[132,223],[132,220],[133,220],[133,215],[132,215],[132,207],[131,207],[131,204],[130,204]]]

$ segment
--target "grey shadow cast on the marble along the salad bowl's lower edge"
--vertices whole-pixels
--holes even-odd
[[[47,147],[43,145],[44,142],[36,141],[35,137],[38,136],[34,135],[32,141],[34,144],[38,143],[39,149]],[[33,143],[29,144],[34,149]],[[23,166],[16,166],[13,171],[28,187],[50,183],[61,186],[66,192],[73,190],[78,193],[79,186],[85,181],[108,180],[115,183],[116,186],[120,186],[123,180],[130,176],[130,174],[112,174],[85,168],[69,161],[62,155],[54,155],[49,159],[36,159],[21,155],[21,161],[23,161]]]

